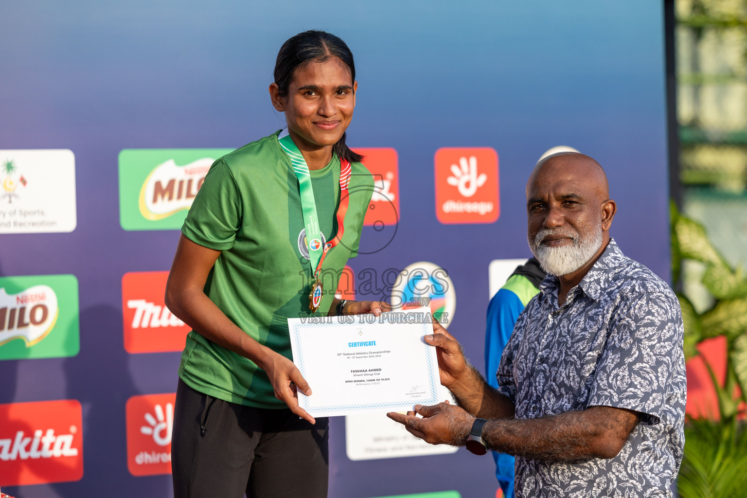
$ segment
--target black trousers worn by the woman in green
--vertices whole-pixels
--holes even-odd
[[[236,405],[181,379],[174,408],[175,498],[326,498],[328,419]]]

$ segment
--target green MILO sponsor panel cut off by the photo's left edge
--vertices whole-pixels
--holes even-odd
[[[80,349],[78,278],[0,277],[0,360],[63,358]]]

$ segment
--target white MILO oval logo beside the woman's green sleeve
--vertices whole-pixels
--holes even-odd
[[[202,158],[178,166],[173,159],[155,166],[140,189],[140,214],[162,220],[189,209],[214,159]]]

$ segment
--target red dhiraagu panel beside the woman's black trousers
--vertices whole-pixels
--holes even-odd
[[[171,473],[176,393],[132,396],[125,407],[127,468],[133,476]]]

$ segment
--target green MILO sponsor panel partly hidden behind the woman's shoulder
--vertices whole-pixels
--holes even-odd
[[[122,228],[182,228],[211,164],[232,150],[124,149],[119,158]]]

